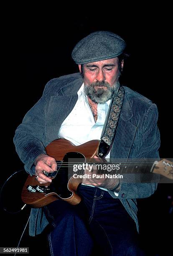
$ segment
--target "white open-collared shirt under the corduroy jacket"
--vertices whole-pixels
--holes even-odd
[[[111,100],[108,100],[104,104],[98,103],[97,122],[95,122],[92,110],[89,106],[88,98],[83,89],[84,83],[77,92],[78,100],[73,110],[62,123],[58,134],[59,138],[65,138],[66,140],[71,141],[75,146],[79,146],[87,141],[100,140],[111,102]],[[109,158],[109,156],[110,151],[106,158]],[[107,191],[105,188],[101,189]],[[115,195],[118,194],[115,193]]]

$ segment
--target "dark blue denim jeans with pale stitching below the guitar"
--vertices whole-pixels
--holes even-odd
[[[79,205],[57,200],[44,207],[51,223],[51,256],[144,255],[135,222],[119,199],[85,185],[80,185],[77,193],[82,197]]]

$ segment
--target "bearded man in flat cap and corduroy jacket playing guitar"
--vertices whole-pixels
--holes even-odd
[[[120,36],[108,31],[83,38],[72,51],[80,74],[49,81],[41,99],[18,126],[16,151],[25,170],[36,175],[39,183],[51,182],[45,172],[56,171],[55,159],[45,151],[51,141],[65,138],[76,146],[93,139],[111,141],[104,133],[109,129],[103,128],[108,124],[110,128],[114,125],[114,134],[105,158],[158,159],[157,107],[119,83],[125,46]],[[108,118],[109,122],[108,110],[114,108],[112,102],[120,94],[119,115],[116,119],[113,114],[116,121]],[[98,156],[94,158],[98,161]],[[41,233],[49,221],[51,255],[91,255],[93,246],[104,255],[140,255],[136,198],[149,197],[156,187],[157,180],[83,179],[77,189],[82,198],[79,205],[57,200],[43,209],[31,210],[30,235]]]

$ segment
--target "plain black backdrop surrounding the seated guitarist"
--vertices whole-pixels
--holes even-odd
[[[15,129],[23,116],[41,97],[46,82],[78,72],[71,51],[81,38],[97,30],[112,31],[127,42],[130,57],[125,63],[121,82],[158,106],[160,157],[171,158],[169,8],[160,5],[158,10],[136,6],[137,11],[131,11],[109,6],[107,10],[103,5],[101,11],[81,8],[71,14],[64,8],[47,8],[46,4],[44,10],[42,7],[20,6],[22,9],[19,10],[19,6],[15,6],[13,10],[10,6],[10,10],[5,10],[7,14],[2,23],[4,46],[1,46],[4,56],[2,66],[5,68],[2,74],[1,134],[5,154],[2,157],[1,184],[11,174],[23,169],[13,145]],[[18,210],[22,205],[20,189],[24,181],[23,173],[20,177],[16,175],[15,189],[10,182],[5,185],[2,202],[8,210]],[[154,195],[138,200],[141,244],[148,255],[170,255],[171,188],[172,184],[159,184]],[[0,214],[1,226],[4,225],[0,246],[17,246],[29,217],[29,208],[16,215],[1,209]],[[44,235],[31,238],[26,230],[20,246],[29,246],[30,255],[42,249],[43,255],[46,255]]]

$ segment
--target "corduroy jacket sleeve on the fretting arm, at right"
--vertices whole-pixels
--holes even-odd
[[[143,122],[140,128],[140,132],[133,144],[133,156],[135,156],[132,161],[143,161],[143,162],[153,162],[159,160],[158,149],[160,147],[160,133],[157,126],[158,120],[158,110],[155,104],[151,104],[145,113]],[[159,182],[159,175],[152,174],[149,176],[148,181],[141,182],[145,180],[148,175],[140,174],[124,174],[121,180],[121,187],[118,196],[114,192],[109,190],[109,194],[114,198],[121,199],[135,199],[135,198],[145,198],[150,197],[157,189],[157,184]],[[135,181],[135,182],[134,182]]]

